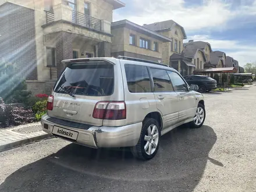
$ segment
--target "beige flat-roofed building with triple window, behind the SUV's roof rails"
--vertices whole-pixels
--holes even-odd
[[[162,62],[163,44],[171,39],[129,20],[111,24],[111,56],[129,56]]]

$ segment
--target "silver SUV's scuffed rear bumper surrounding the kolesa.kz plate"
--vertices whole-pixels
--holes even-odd
[[[87,147],[92,148],[133,147],[138,143],[142,127],[141,122],[120,127],[93,126],[90,127],[88,130],[84,130],[69,126],[58,125],[56,123],[49,122],[49,120],[47,120],[48,118],[48,115],[42,116],[41,125],[43,131],[48,134],[52,134],[54,126],[77,131],[77,140],[70,140],[69,138],[61,137],[55,134],[52,135],[68,141],[72,141],[73,143],[86,145]],[[44,124],[48,125],[48,129],[44,128]]]

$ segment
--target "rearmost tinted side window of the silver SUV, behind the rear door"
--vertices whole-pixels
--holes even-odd
[[[146,66],[125,65],[127,85],[130,93],[150,93],[150,76]]]

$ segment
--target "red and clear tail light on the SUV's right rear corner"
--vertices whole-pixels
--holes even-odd
[[[94,107],[93,118],[108,120],[126,119],[126,104],[124,101],[99,101]]]

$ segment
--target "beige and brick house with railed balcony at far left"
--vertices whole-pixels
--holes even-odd
[[[29,87],[40,92],[37,85],[55,81],[63,59],[111,56],[112,12],[123,6],[119,0],[0,0],[0,45],[30,50],[15,58],[0,49],[0,57],[16,59]]]

